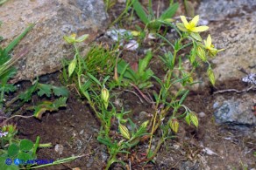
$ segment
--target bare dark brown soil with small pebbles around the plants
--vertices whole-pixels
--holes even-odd
[[[117,8],[120,9],[120,8]],[[111,11],[113,12],[113,11]],[[116,16],[120,12],[116,10]],[[110,14],[110,16],[114,16]],[[124,55],[125,56],[125,55]],[[136,56],[136,54],[135,54]],[[137,60],[139,56],[137,55]],[[130,60],[131,61],[131,60]],[[153,59],[153,71],[161,76],[159,65]],[[59,72],[46,75],[42,81],[54,82],[60,85]],[[27,84],[23,84],[27,85]],[[252,169],[256,167],[256,139],[252,134],[238,131],[231,126],[220,126],[215,123],[213,92],[220,89],[244,89],[238,79],[218,82],[216,87],[205,86],[200,91],[190,92],[185,105],[197,113],[199,127],[182,124],[173,139],[167,139],[161,146],[160,152],[154,159],[155,163],[139,163],[146,151],[146,143],[136,146],[131,152],[132,156],[126,159],[132,169]],[[135,92],[135,89],[131,89]],[[152,116],[151,106],[146,101],[141,102],[132,92],[121,92],[117,97],[124,105],[124,109],[132,110],[129,117],[134,121],[142,121]],[[226,95],[231,95],[226,93]],[[232,94],[233,95],[233,94]],[[239,96],[238,96],[239,97]],[[144,112],[144,114],[143,114]],[[31,115],[27,112],[25,115]],[[47,112],[42,119],[16,119],[18,137],[32,139],[40,137],[40,143],[51,142],[53,147],[39,149],[38,159],[59,160],[72,155],[82,155],[81,158],[55,167],[42,169],[103,169],[108,153],[106,147],[96,140],[100,124],[96,116],[79,98],[75,90],[70,92],[68,106],[58,112]],[[253,128],[253,127],[252,127]],[[246,131],[250,132],[250,131]],[[156,135],[157,136],[157,135]],[[157,139],[157,138],[156,138]],[[157,143],[153,141],[153,145]],[[63,148],[58,151],[57,146]],[[211,153],[210,153],[211,151]],[[129,162],[130,161],[130,162]],[[127,167],[126,167],[127,168]],[[111,169],[126,169],[114,164]],[[127,168],[128,169],[128,168]]]

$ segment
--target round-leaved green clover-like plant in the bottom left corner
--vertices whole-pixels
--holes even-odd
[[[71,156],[60,160],[46,160],[43,165],[37,157],[39,148],[52,147],[51,143],[39,144],[39,136],[35,143],[29,139],[18,139],[18,129],[13,124],[0,127],[0,169],[18,170],[49,167],[75,160],[80,156]]]

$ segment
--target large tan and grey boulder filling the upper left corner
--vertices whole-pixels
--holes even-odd
[[[18,61],[18,75],[14,81],[32,79],[59,70],[62,58],[73,58],[72,49],[64,35],[89,34],[86,45],[101,34],[108,25],[103,0],[11,0],[1,6],[3,25],[0,35],[4,46],[32,23],[35,27],[18,44],[13,52],[17,56],[25,49],[25,58]]]

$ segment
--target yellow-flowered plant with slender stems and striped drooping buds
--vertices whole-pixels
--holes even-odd
[[[115,68],[111,67],[109,70],[114,72],[114,76],[111,73],[99,77],[98,72],[90,71],[87,63],[82,63],[83,58],[76,48],[76,43],[81,42],[87,36],[78,37],[77,39],[74,35],[65,37],[65,40],[75,47],[75,57],[68,63],[68,78],[76,78],[78,91],[82,94],[82,97],[87,99],[89,106],[101,124],[97,139],[107,146],[110,154],[105,169],[109,169],[113,163],[126,165],[127,162],[119,158],[122,157],[122,153],[129,157],[132,148],[137,146],[140,141],[148,141],[146,157],[140,162],[153,161],[162,144],[179,132],[181,119],[184,119],[189,126],[199,126],[196,112],[184,105],[189,92],[187,86],[196,83],[193,78],[194,72],[196,67],[202,65],[202,63],[208,65],[206,72],[211,84],[215,85],[215,77],[209,59],[223,50],[217,50],[211,44],[210,35],[203,41],[199,32],[206,31],[208,27],[197,26],[198,20],[199,16],[196,16],[188,22],[186,17],[181,16],[182,23],[178,23],[176,26],[164,21],[166,25],[174,28],[180,36],[174,41],[174,44],[160,34],[156,34],[166,45],[172,47],[171,51],[160,57],[166,65],[166,74],[163,78],[158,78],[149,68],[148,64],[153,57],[151,51],[146,53],[145,58],[139,60],[137,71],[132,70],[130,65],[119,58],[122,52],[119,51],[116,53]],[[184,55],[185,50],[189,52]],[[184,59],[188,59],[190,62],[190,69],[184,68]],[[96,66],[98,65],[92,66],[92,68]],[[139,88],[136,89],[153,108],[153,117],[138,126],[132,122],[132,119],[125,116],[126,112],[123,108],[121,110],[117,109],[112,98],[115,97],[116,87],[120,89],[134,84],[143,89],[143,87],[153,85],[153,81],[160,85],[160,91],[154,90],[151,94],[153,97],[149,96],[146,99],[146,95]],[[123,83],[126,85],[122,85]],[[156,135],[156,132],[160,133]],[[153,139],[157,141],[156,147],[152,147]]]

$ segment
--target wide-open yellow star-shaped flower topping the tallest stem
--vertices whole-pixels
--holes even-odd
[[[197,26],[198,21],[199,21],[199,16],[197,15],[196,17],[194,17],[189,23],[186,19],[185,16],[181,16],[181,21],[183,24],[178,23],[177,27],[181,30],[181,31],[185,31],[185,32],[203,32],[203,31],[207,31],[209,29],[208,26]]]

